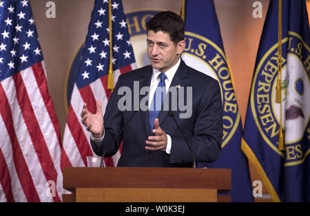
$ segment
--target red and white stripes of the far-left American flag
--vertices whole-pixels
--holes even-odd
[[[0,131],[0,202],[61,202],[59,122],[43,61],[1,81]]]

